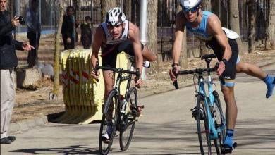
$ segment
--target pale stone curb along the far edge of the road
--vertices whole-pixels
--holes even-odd
[[[262,68],[262,67],[268,66],[272,63],[275,63],[275,60],[257,63],[256,65],[259,66],[259,68]],[[193,80],[179,82],[178,85],[180,88],[188,87],[190,85],[193,85]],[[175,87],[172,85],[172,82],[169,83],[169,85],[164,85],[164,86],[161,86],[160,88],[161,89],[149,90],[147,92],[139,93],[139,97],[144,98],[144,97],[152,96],[154,94],[161,94],[164,92],[169,92],[169,91],[175,90]],[[9,127],[9,133],[14,134],[14,133],[22,132],[25,130],[29,130],[30,128],[35,128],[37,126],[44,125],[46,123],[49,123],[47,116],[42,116],[39,118],[30,119],[30,120],[22,120],[22,121],[19,121],[16,123],[11,123],[10,127]]]

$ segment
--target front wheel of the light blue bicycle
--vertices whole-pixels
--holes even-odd
[[[211,141],[209,138],[209,125],[207,120],[207,110],[204,98],[197,96],[197,135],[199,137],[201,154],[211,154]]]

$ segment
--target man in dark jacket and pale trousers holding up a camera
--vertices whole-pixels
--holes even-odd
[[[16,137],[8,136],[8,125],[16,102],[16,89],[13,68],[18,65],[16,49],[30,51],[35,49],[29,44],[13,39],[12,31],[19,25],[19,17],[11,19],[6,11],[8,0],[0,0],[0,70],[1,70],[1,144],[11,144]]]

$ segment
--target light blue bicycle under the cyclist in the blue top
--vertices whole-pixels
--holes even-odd
[[[216,58],[214,54],[206,54],[202,56],[207,63],[207,68],[196,68],[194,70],[179,70],[176,75],[193,75],[193,82],[195,86],[195,97],[197,97],[197,103],[194,109],[190,109],[193,112],[193,117],[197,121],[197,135],[200,143],[201,154],[212,154],[212,140],[214,140],[214,146],[216,154],[231,153],[226,152],[223,149],[224,138],[226,137],[226,119],[221,109],[221,101],[216,89],[213,90],[211,72],[216,71],[219,68],[219,63],[216,63],[214,68],[210,68],[210,62],[212,58]],[[173,70],[174,72],[174,70]],[[204,73],[207,73],[207,80],[204,80]],[[195,77],[197,77],[197,85],[199,90],[197,91]],[[224,79],[219,77],[221,83],[224,84]],[[208,85],[208,94],[204,87],[204,84]],[[178,89],[177,80],[173,82],[173,85]],[[216,85],[215,85],[216,87]]]

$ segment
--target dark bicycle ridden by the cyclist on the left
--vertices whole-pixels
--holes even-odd
[[[99,152],[100,154],[108,154],[111,145],[113,144],[114,137],[117,137],[116,131],[119,132],[119,144],[121,151],[126,151],[130,145],[135,129],[135,122],[138,121],[140,116],[140,108],[138,106],[138,90],[136,87],[130,87],[132,75],[140,77],[140,71],[135,68],[135,58],[130,57],[131,67],[130,70],[123,70],[123,68],[109,68],[99,66],[96,64],[95,70],[112,70],[113,73],[118,73],[114,89],[109,92],[109,95],[104,103],[102,114],[102,122],[99,130]],[[113,74],[114,77],[114,74]],[[121,82],[127,81],[125,95],[121,95]],[[110,114],[111,113],[111,114]],[[109,117],[109,120],[107,118]],[[110,121],[111,120],[111,121]],[[104,142],[102,136],[106,131],[108,125],[111,125],[112,131],[109,133],[109,142]]]

